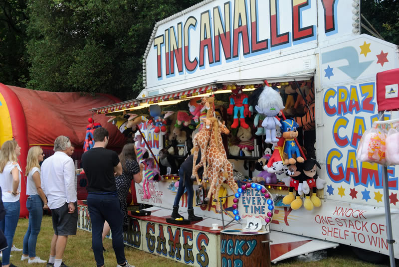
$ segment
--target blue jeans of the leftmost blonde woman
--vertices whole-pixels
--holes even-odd
[[[12,240],[14,239],[16,225],[18,224],[19,218],[19,200],[17,202],[3,202],[5,217],[0,222],[0,229],[4,232],[4,236],[7,239],[8,248],[2,251],[3,259],[2,265],[9,264],[9,254],[11,252]]]

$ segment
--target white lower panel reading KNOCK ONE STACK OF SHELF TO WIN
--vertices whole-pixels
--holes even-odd
[[[392,221],[399,220],[399,211],[391,210]],[[384,207],[371,207],[342,201],[323,201],[312,211],[276,207],[271,230],[303,235],[373,250],[388,255],[387,228]],[[394,239],[399,239],[393,228]],[[398,244],[394,244],[396,258]]]

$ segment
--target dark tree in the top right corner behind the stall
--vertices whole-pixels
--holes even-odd
[[[362,0],[361,13],[388,42],[399,44],[399,0]],[[367,27],[366,21],[362,21]],[[364,27],[362,33],[371,34]]]

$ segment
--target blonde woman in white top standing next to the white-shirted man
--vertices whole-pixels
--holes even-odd
[[[26,208],[29,211],[29,225],[23,238],[23,252],[21,261],[28,260],[29,264],[44,264],[47,261],[36,257],[36,241],[40,232],[43,209],[48,209],[47,199],[40,186],[40,165],[44,153],[40,146],[32,146],[28,151],[26,159]]]

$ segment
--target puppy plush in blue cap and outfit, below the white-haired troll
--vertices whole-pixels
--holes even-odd
[[[304,158],[301,157],[301,152],[299,150],[298,145],[295,142],[295,138],[298,136],[298,124],[291,119],[287,119],[283,121],[281,124],[281,128],[283,131],[283,137],[285,138],[284,141],[284,153],[287,154],[287,158],[284,158],[284,164],[295,164],[295,162],[303,162]],[[296,160],[294,158],[296,156]]]

